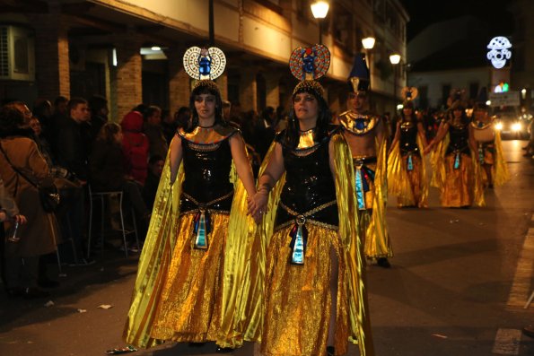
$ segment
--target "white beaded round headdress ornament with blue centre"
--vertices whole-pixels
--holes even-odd
[[[221,49],[216,47],[188,48],[184,54],[184,69],[193,79],[214,80],[223,74],[226,57]]]

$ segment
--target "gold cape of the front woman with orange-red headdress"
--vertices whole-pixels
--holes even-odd
[[[374,345],[372,342],[371,318],[367,302],[367,284],[365,283],[365,258],[363,244],[358,232],[357,208],[355,202],[355,172],[352,164],[352,155],[342,134],[333,135],[334,161],[336,168],[336,196],[339,217],[339,236],[345,250],[347,265],[347,300],[350,322],[350,342],[357,343],[360,355],[373,356]],[[271,154],[274,152],[276,143],[272,143],[261,168],[259,177],[267,168]],[[264,250],[273,235],[276,209],[280,201],[280,193],[285,184],[285,173],[278,180],[275,187],[269,193],[267,213],[261,226],[261,240]]]

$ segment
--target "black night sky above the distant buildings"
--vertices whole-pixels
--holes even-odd
[[[477,16],[489,23],[490,35],[509,36],[513,32],[512,14],[506,10],[511,0],[400,0],[410,16],[407,39],[434,23],[463,15]]]

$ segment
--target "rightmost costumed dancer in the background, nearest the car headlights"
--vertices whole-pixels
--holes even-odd
[[[501,132],[495,128],[495,117],[490,117],[486,105],[486,88],[483,88],[473,109],[473,134],[478,146],[478,161],[482,165],[485,187],[502,186],[510,179],[508,166],[504,161]]]

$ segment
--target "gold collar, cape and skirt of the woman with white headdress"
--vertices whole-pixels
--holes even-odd
[[[208,145],[219,140],[214,133]],[[200,134],[200,133],[198,133]],[[191,145],[206,144],[182,133]],[[192,146],[193,147],[193,146]],[[207,151],[214,146],[205,146]],[[212,212],[207,249],[193,248],[193,216],[180,215],[184,163],[171,186],[169,155],[153,208],[124,338],[138,347],[162,341],[215,341],[221,347],[239,347],[256,341],[260,332],[264,258],[254,237],[254,223],[247,216],[245,189],[232,169],[230,212]],[[258,265],[256,263],[258,262]]]

